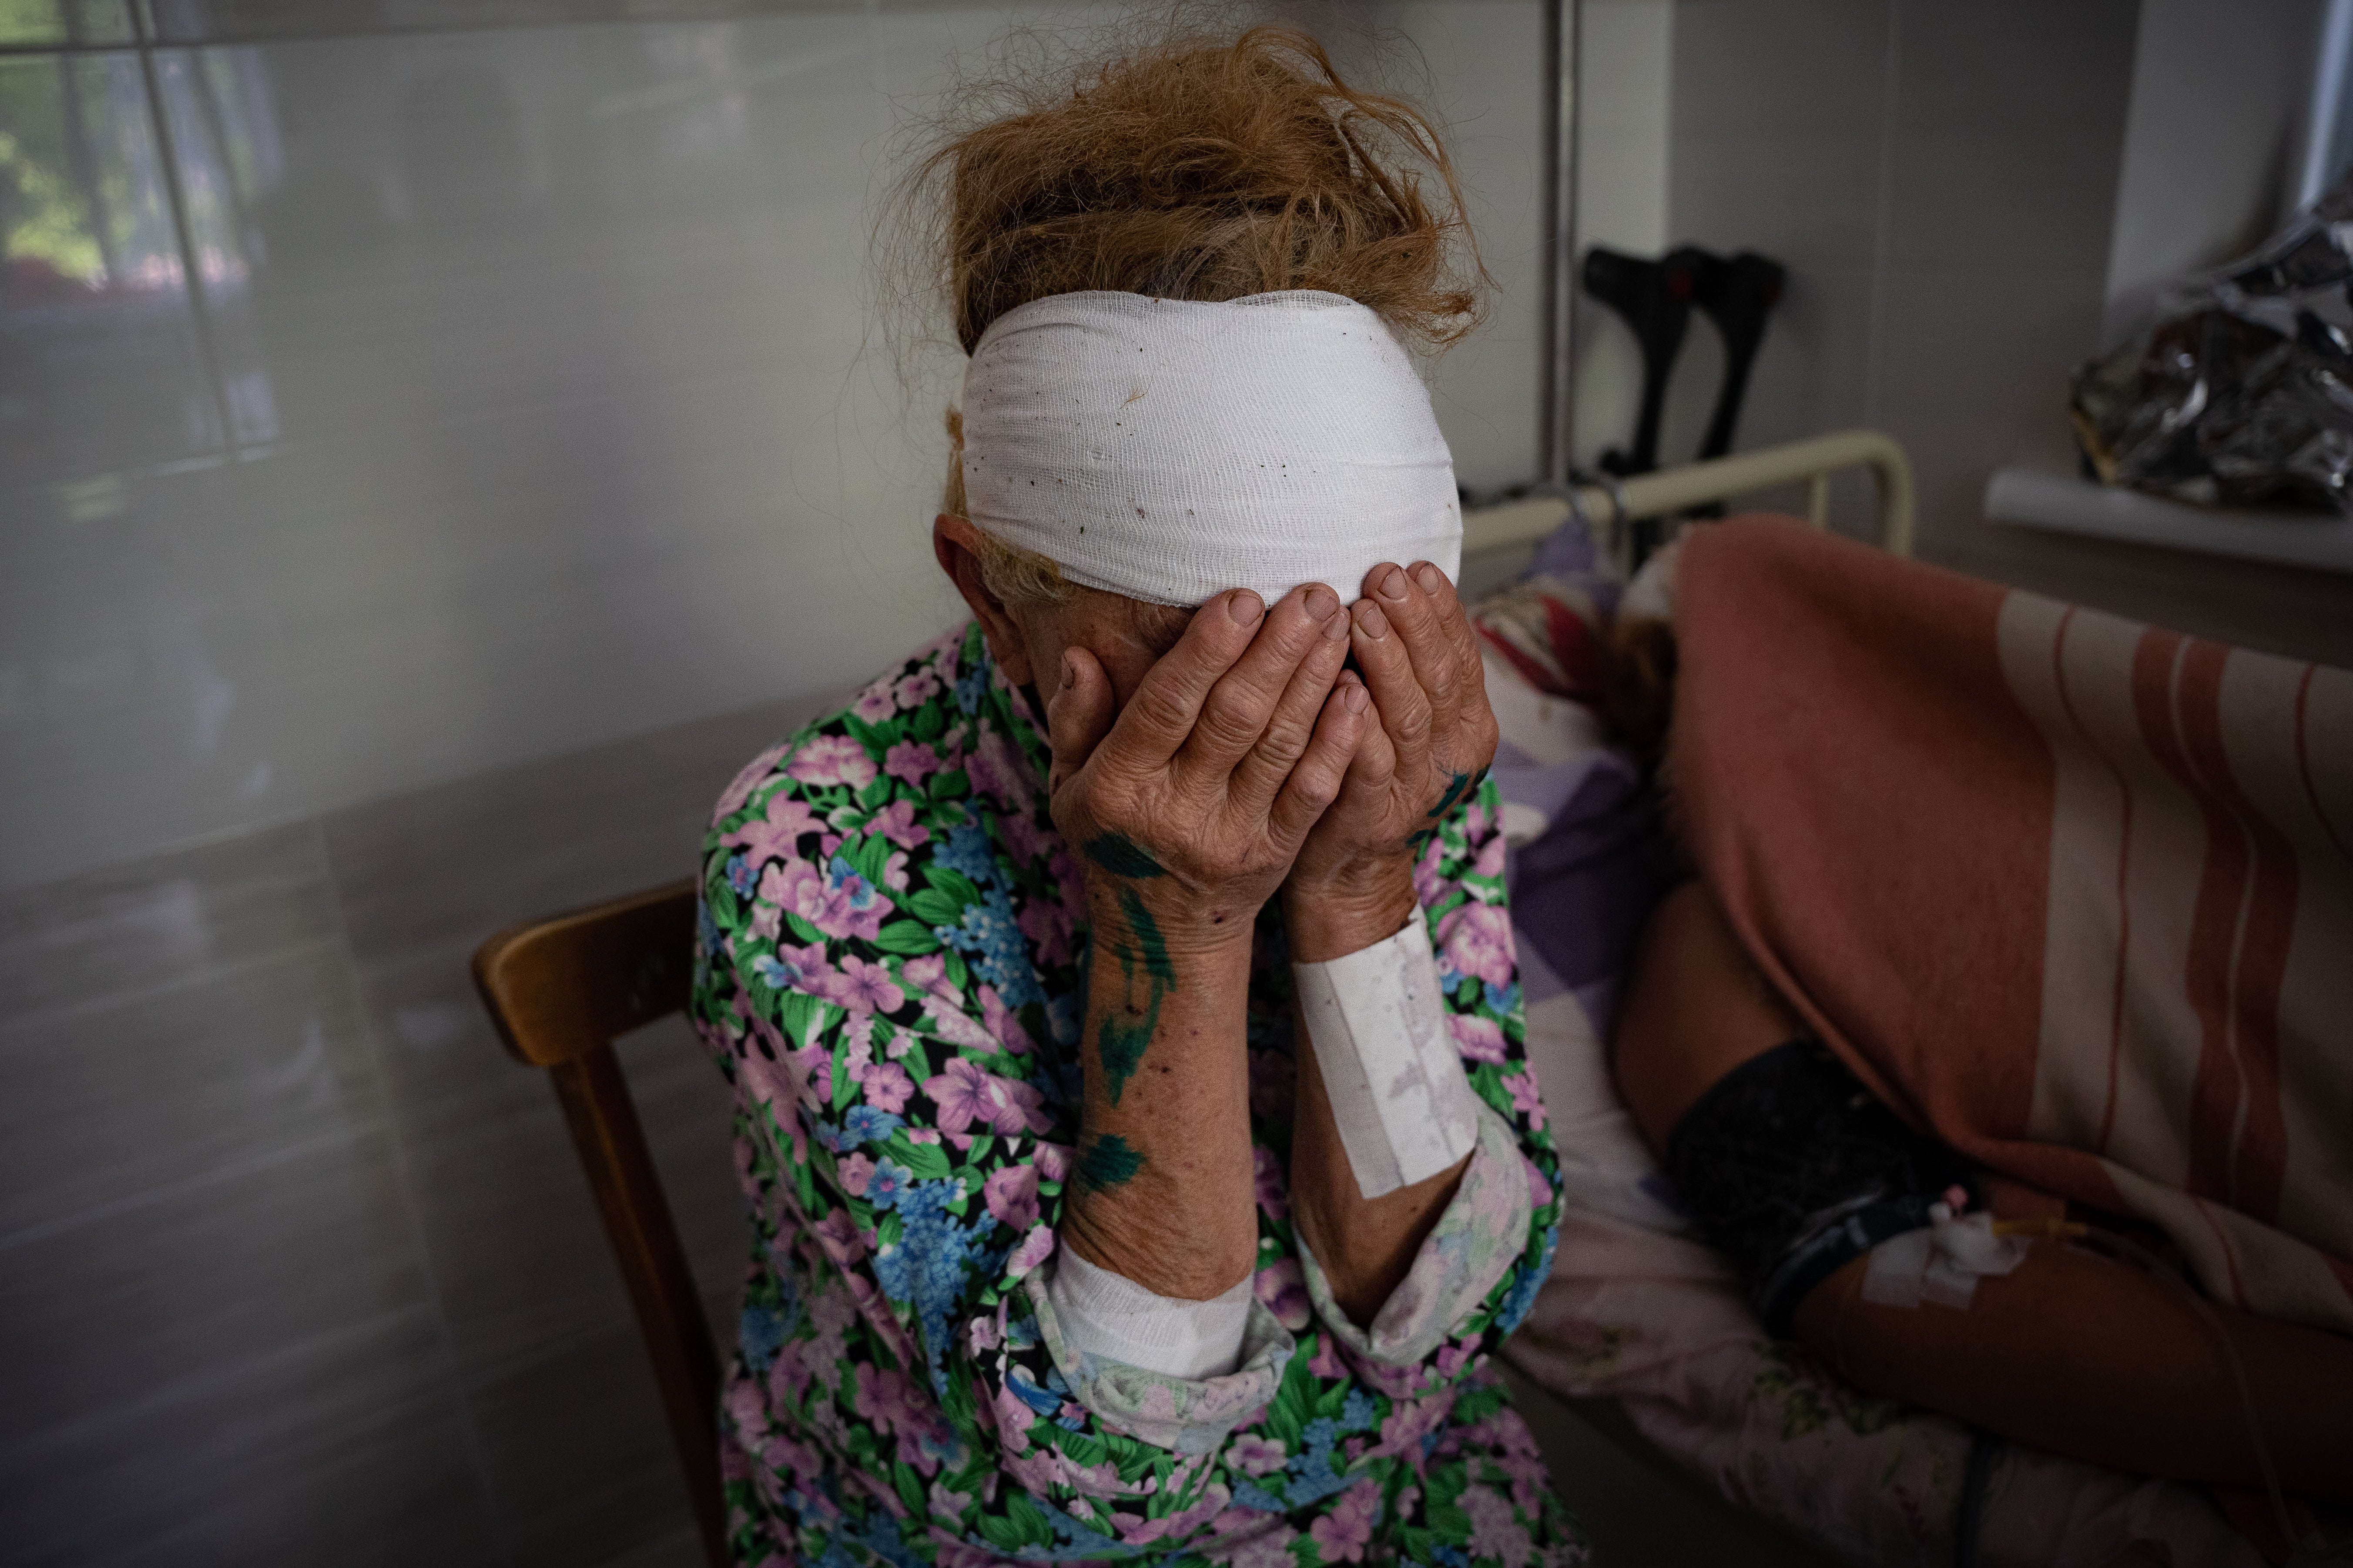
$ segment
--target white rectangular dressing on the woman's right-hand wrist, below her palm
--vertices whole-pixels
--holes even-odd
[[[1332,1121],[1358,1190],[1377,1199],[1478,1147],[1478,1098],[1447,1027],[1431,929],[1414,910],[1386,943],[1292,964]]]

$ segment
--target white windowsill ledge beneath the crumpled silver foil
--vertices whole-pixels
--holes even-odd
[[[2226,512],[2129,489],[2108,489],[2040,468],[1998,468],[1986,480],[1986,517],[2165,550],[2353,571],[2353,517],[2337,512]]]

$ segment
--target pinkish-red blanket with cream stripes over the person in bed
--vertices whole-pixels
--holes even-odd
[[[1899,1114],[2353,1333],[2353,672],[1791,520],[1694,529],[1673,792]]]

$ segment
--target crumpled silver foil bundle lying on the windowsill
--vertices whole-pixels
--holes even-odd
[[[2167,292],[2158,324],[2073,378],[2101,484],[2200,505],[2353,515],[2353,174],[2252,256]]]

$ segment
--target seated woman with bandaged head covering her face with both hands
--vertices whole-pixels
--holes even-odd
[[[1419,174],[1417,174],[1419,169]],[[1428,125],[1285,31],[951,136],[972,623],[755,759],[694,1018],[758,1227],[746,1563],[1537,1563],[1553,1246],[1497,726],[1409,343]]]

